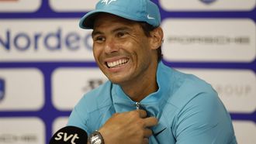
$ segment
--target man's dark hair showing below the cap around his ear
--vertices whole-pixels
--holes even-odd
[[[150,24],[148,24],[147,22],[140,22],[140,26],[141,28],[144,30],[144,34],[147,37],[150,37],[150,32],[152,32],[154,29],[156,29],[157,27],[151,26]],[[161,50],[161,46],[159,46],[157,48],[157,61],[161,61],[163,57],[162,54],[162,50]]]

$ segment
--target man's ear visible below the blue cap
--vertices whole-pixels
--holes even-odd
[[[161,27],[157,27],[152,32],[151,35],[151,49],[156,50],[158,47],[161,46],[164,38],[163,29]]]

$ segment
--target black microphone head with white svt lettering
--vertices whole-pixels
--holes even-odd
[[[87,132],[75,126],[66,126],[53,135],[49,144],[85,144]]]

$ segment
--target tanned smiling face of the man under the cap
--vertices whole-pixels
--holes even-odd
[[[133,84],[154,74],[157,61],[151,37],[137,22],[100,14],[92,32],[93,53],[99,68],[115,84]],[[152,66],[154,64],[154,67]]]

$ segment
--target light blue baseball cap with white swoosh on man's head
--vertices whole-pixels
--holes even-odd
[[[150,0],[100,0],[95,10],[88,12],[81,18],[79,26],[82,29],[93,29],[95,15],[101,12],[137,22],[147,22],[154,27],[160,26],[161,23],[159,9]]]

